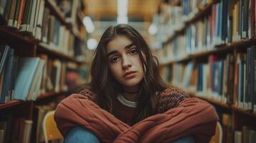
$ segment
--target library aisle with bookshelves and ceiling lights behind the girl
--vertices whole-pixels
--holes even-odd
[[[120,23],[146,39],[166,84],[214,106],[218,142],[255,143],[255,9],[255,0],[0,0],[0,143],[64,142],[45,137],[44,117],[90,81],[100,36]]]

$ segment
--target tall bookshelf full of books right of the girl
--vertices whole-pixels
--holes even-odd
[[[159,29],[172,27],[156,34],[161,76],[216,107],[224,142],[246,142],[256,130],[255,1],[179,2],[159,7]]]

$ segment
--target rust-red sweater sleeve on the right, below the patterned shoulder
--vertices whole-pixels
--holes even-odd
[[[196,142],[209,142],[214,135],[217,112],[211,104],[197,98],[186,98],[179,107],[156,114],[122,132],[115,143],[172,142],[193,135]]]

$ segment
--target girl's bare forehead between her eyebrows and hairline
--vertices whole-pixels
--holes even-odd
[[[126,36],[116,36],[113,40],[111,40],[107,45],[107,53],[110,51],[118,51],[125,49],[125,46],[132,44],[133,41],[128,39]]]

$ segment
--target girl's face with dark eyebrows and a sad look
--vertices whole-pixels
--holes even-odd
[[[125,89],[137,90],[144,73],[138,49],[133,41],[126,36],[116,36],[107,45],[107,56],[115,80]]]

